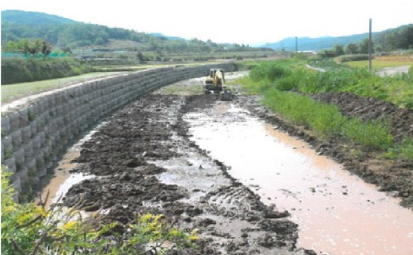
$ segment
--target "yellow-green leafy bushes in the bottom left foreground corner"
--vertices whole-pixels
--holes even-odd
[[[116,234],[117,223],[103,225],[99,212],[83,217],[77,209],[81,202],[67,209],[15,203],[9,178],[2,166],[1,254],[144,254],[192,246],[198,239],[196,230],[186,233],[171,228],[162,215],[137,216],[125,233]],[[167,243],[173,245],[166,247]]]

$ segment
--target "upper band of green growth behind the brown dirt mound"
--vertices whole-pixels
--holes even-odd
[[[273,86],[284,91],[292,89],[304,93],[346,91],[359,96],[372,96],[393,102],[399,107],[413,109],[412,73],[381,78],[367,69],[338,65],[332,63],[332,60],[310,62],[310,65],[326,69],[325,72],[297,67],[297,63],[300,62],[283,60],[273,64],[260,64],[251,70],[250,77],[255,82],[266,80],[266,87]]]

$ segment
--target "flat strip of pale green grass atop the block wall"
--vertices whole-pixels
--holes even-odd
[[[59,89],[76,82],[83,82],[85,80],[92,80],[94,78],[100,78],[113,74],[118,73],[89,73],[52,80],[40,80],[35,82],[22,82],[11,85],[1,85],[1,104],[6,104],[8,102],[12,102],[13,100],[24,98],[26,96],[30,96],[43,91]]]

